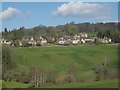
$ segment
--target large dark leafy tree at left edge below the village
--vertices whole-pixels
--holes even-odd
[[[13,50],[6,45],[2,47],[2,78],[10,81],[13,77],[13,71],[16,67]]]

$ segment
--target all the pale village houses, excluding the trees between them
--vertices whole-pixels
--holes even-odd
[[[60,37],[55,41],[55,38],[52,38],[53,41],[55,41],[55,44],[79,44],[79,43],[87,43],[87,42],[94,42],[97,37],[88,37],[87,33],[80,33],[79,35],[74,35],[74,36],[64,36]],[[110,43],[111,39],[104,37],[104,38],[99,38],[99,41],[101,43]],[[28,44],[31,45],[45,45],[48,44],[48,39],[43,38],[40,36],[38,39],[34,39],[34,37],[31,38],[23,38],[23,40],[17,40],[19,46],[23,46],[23,42],[27,42]],[[15,46],[14,41],[12,40],[5,40],[5,39],[0,39],[1,44],[7,44],[10,46]]]

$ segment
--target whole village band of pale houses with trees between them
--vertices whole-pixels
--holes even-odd
[[[50,44],[56,45],[78,45],[78,44],[85,44],[85,43],[92,43],[94,44],[95,40],[99,40],[100,44],[108,44],[111,43],[112,40],[110,38],[98,38],[98,37],[89,37],[87,33],[79,33],[78,35],[74,36],[64,36],[60,38],[43,38],[40,36],[39,38],[30,37],[30,38],[23,38],[22,40],[6,40],[0,39],[1,44],[6,44],[9,46],[19,46],[19,47],[30,47],[30,46],[47,46]]]

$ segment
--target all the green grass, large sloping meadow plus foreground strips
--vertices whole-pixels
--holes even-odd
[[[70,64],[73,63],[79,77],[82,77],[82,79],[87,82],[83,84],[71,84],[71,87],[117,87],[116,80],[111,80],[110,82],[109,80],[106,80],[105,82],[100,81],[98,83],[94,82],[96,77],[92,70],[95,65],[102,63],[106,57],[109,59],[108,68],[117,70],[117,45],[15,48],[15,56],[17,63],[16,72],[20,74],[28,74],[31,67],[36,66],[38,69],[45,71],[49,71],[52,68],[57,70],[60,75],[65,75]],[[91,81],[93,83],[91,83]],[[27,85],[21,83],[17,85],[27,87]],[[8,84],[8,87],[12,87],[12,85]],[[66,84],[55,87],[69,86]]]

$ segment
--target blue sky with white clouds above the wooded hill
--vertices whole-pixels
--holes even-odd
[[[3,2],[0,19],[2,30],[18,29],[21,26],[25,28],[38,25],[57,26],[72,21],[75,23],[114,22],[118,20],[118,3]]]

